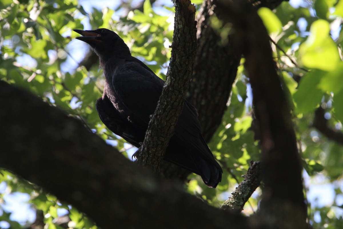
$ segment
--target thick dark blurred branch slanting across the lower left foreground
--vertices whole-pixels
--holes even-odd
[[[157,178],[56,107],[0,81],[0,167],[86,213],[102,228],[249,228]]]

